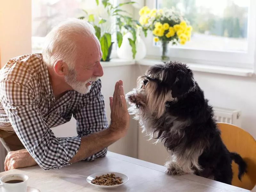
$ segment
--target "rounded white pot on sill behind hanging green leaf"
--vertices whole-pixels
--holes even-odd
[[[129,43],[128,38],[132,39],[132,34],[127,33],[123,36],[123,42],[120,48],[117,48],[117,56],[120,59],[125,60],[133,60],[132,58],[132,47]],[[137,36],[137,43],[136,43],[136,55],[135,60],[141,60],[146,57],[147,50],[146,45],[144,41],[140,38],[140,36]]]

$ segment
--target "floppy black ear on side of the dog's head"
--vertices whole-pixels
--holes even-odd
[[[176,79],[172,84],[172,97],[180,97],[195,89],[193,72],[189,68],[181,68],[176,73]]]

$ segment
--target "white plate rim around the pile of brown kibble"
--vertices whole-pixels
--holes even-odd
[[[123,183],[122,184],[119,184],[119,185],[95,185],[93,183],[91,183],[91,181],[93,179],[95,179],[96,176],[100,176],[100,175],[103,175],[103,174],[110,174],[110,173],[114,173],[116,175],[116,177],[121,177],[123,178]],[[100,187],[100,188],[115,188],[115,187],[119,187],[121,185],[124,185],[124,183],[126,183],[129,178],[123,174],[123,173],[118,173],[118,172],[99,172],[99,173],[93,173],[91,174],[90,176],[87,177],[87,182],[90,183],[91,185],[94,185],[94,186],[97,186],[97,187]]]

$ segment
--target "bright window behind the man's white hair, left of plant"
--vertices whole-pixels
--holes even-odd
[[[42,51],[44,37],[55,25],[68,18],[85,16],[82,9],[88,14],[104,14],[103,7],[97,7],[95,0],[33,0],[32,52]]]

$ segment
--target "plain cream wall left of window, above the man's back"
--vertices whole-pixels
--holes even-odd
[[[0,0],[0,47],[1,66],[31,53],[31,0]]]

